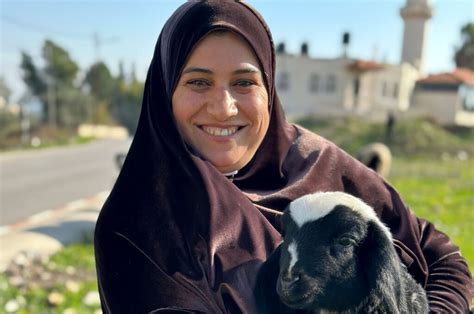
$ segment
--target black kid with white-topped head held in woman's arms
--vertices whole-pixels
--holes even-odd
[[[283,243],[262,265],[259,313],[427,313],[388,228],[362,200],[306,195],[282,216]]]

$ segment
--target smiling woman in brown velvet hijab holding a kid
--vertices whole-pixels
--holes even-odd
[[[139,125],[97,222],[104,313],[254,313],[256,273],[293,199],[346,191],[376,208],[433,311],[466,311],[458,249],[334,144],[289,124],[273,42],[235,1],[188,2],[164,26]]]

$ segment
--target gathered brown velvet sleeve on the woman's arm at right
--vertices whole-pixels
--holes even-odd
[[[408,271],[427,293],[432,313],[469,313],[472,277],[466,260],[449,237],[417,218],[389,187],[392,209],[382,212]]]

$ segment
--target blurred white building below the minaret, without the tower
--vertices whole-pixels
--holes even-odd
[[[418,70],[409,63],[277,55],[277,90],[289,118],[364,115],[385,119],[408,109]]]

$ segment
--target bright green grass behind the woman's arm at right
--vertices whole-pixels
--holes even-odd
[[[418,217],[434,223],[474,266],[474,159],[394,160],[389,181]]]

